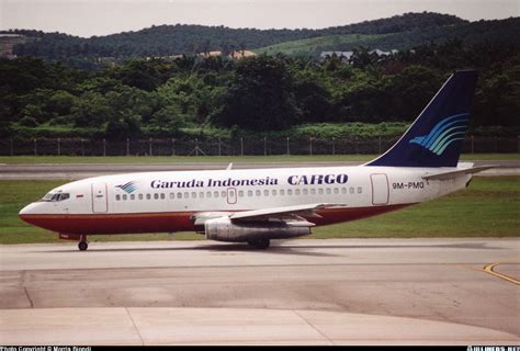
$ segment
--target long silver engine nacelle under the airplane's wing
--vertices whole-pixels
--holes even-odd
[[[228,217],[204,223],[206,239],[228,242],[246,242],[258,239],[286,239],[310,234],[310,227],[290,226],[285,222],[231,223]]]

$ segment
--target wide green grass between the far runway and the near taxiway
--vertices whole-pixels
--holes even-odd
[[[0,181],[0,244],[56,242],[57,235],[32,227],[18,212],[65,181]],[[518,237],[520,177],[475,178],[470,188],[406,210],[334,226],[308,238]],[[203,239],[181,233],[90,236],[90,241]]]

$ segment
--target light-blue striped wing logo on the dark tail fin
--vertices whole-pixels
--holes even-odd
[[[440,156],[454,141],[464,140],[468,113],[449,116],[439,122],[428,135],[417,136],[409,144],[417,144]]]

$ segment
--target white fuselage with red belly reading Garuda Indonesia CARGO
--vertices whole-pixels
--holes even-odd
[[[222,171],[143,172],[83,179],[54,189],[61,201],[39,201],[22,219],[63,234],[193,230],[200,213],[235,213],[312,203],[317,225],[398,210],[465,186],[468,174],[450,180],[423,176],[456,168],[324,167]]]

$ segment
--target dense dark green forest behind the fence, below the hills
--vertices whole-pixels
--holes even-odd
[[[518,47],[452,39],[382,57],[361,47],[347,63],[184,55],[84,70],[32,57],[0,59],[0,136],[226,138],[301,128],[330,137],[360,123],[378,126],[378,135],[399,134],[449,75],[464,68],[481,71],[472,133],[518,135]]]

